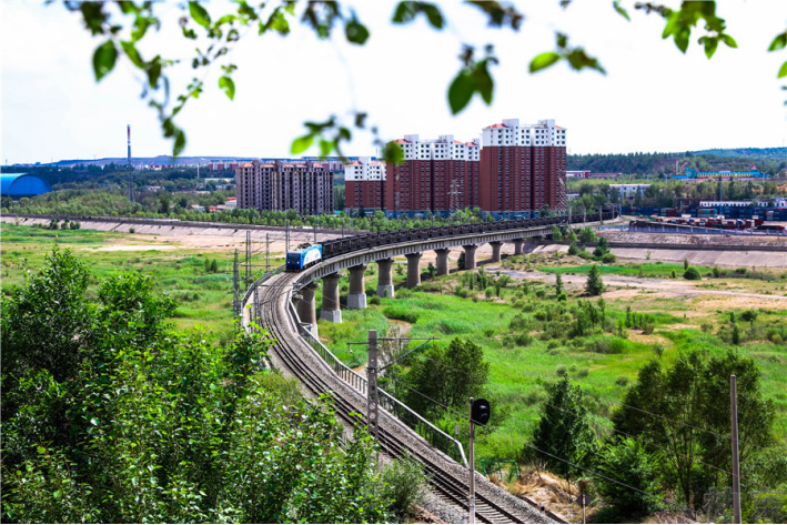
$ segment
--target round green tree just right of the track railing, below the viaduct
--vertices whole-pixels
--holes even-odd
[[[403,381],[415,391],[450,408],[463,410],[470,397],[481,397],[490,374],[481,346],[470,340],[454,337],[447,347],[432,344],[423,360],[416,360],[403,374]],[[417,413],[440,417],[441,406],[406,391],[407,406]]]

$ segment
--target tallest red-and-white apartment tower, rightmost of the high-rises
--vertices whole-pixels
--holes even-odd
[[[529,215],[566,205],[566,130],[554,120],[519,124],[518,119],[484,128],[481,150],[481,209]]]

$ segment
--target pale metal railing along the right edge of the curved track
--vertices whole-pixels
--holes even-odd
[[[322,344],[322,342],[314,337],[312,333],[306,330],[303,324],[297,319],[297,312],[295,312],[295,306],[290,302],[290,314],[295,320],[297,325],[297,333],[303,337],[310,346],[322,357],[322,360],[327,364],[335,374],[341,377],[345,383],[352,386],[354,390],[361,394],[366,394],[366,378],[350,368],[347,365],[342,363],[339,357],[336,357],[333,352],[331,352],[327,346]],[[408,428],[415,431],[421,437],[426,440],[426,442],[441,451],[443,454],[447,455],[456,462],[461,462],[464,466],[467,466],[467,458],[465,457],[464,448],[462,443],[451,437],[445,432],[441,431],[434,426],[428,421],[424,420],[418,413],[414,412],[407,405],[398,401],[393,395],[385,392],[383,388],[377,387],[380,395],[380,405],[390,412],[394,417],[404,423]]]

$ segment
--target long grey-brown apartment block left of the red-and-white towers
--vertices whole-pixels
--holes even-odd
[[[245,162],[235,170],[238,208],[332,213],[333,172],[316,162]]]

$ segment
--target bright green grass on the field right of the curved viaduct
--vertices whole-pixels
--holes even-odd
[[[663,267],[665,265],[654,265]],[[668,265],[667,265],[668,266]],[[680,266],[683,265],[675,265]],[[561,269],[579,272],[581,269]],[[638,272],[638,270],[635,270]],[[639,368],[649,360],[657,359],[655,342],[638,342],[639,331],[632,330],[630,339],[624,340],[612,334],[593,335],[583,339],[582,344],[572,344],[571,339],[541,341],[534,337],[526,346],[506,344],[503,337],[512,334],[508,325],[517,315],[532,319],[533,313],[524,313],[515,307],[508,289],[504,302],[486,302],[462,299],[450,294],[397,291],[396,299],[381,299],[380,305],[370,304],[365,311],[343,311],[344,323],[334,325],[320,323],[320,334],[326,345],[335,350],[336,355],[351,366],[359,366],[365,360],[351,356],[344,349],[349,341],[365,341],[366,330],[376,329],[380,334],[386,330],[385,319],[403,320],[412,323],[410,335],[413,337],[438,337],[441,344],[447,344],[454,336],[472,339],[484,350],[491,363],[490,385],[486,395],[496,403],[497,413],[508,413],[501,431],[516,440],[527,441],[539,420],[542,402],[546,398],[545,384],[557,378],[558,371],[566,371],[569,377],[581,384],[592,395],[588,407],[593,425],[604,432],[609,425],[609,415],[627,387],[636,382]],[[535,309],[554,304],[554,294],[529,301]],[[371,297],[371,295],[370,295]],[[723,352],[727,347],[715,336],[703,334],[698,330],[673,329],[672,325],[686,323],[675,311],[674,300],[658,301],[652,309],[634,310],[650,314],[656,322],[654,336],[665,346],[660,360],[664,365],[674,363],[680,352],[700,349],[707,352]],[[573,303],[573,300],[569,301]],[[607,314],[612,317],[625,314],[628,301],[607,302]],[[686,310],[689,307],[686,306]],[[714,313],[720,322],[728,313]],[[773,316],[784,320],[785,312],[776,311],[761,314],[760,320]],[[619,353],[596,353],[588,350],[599,339],[616,346]],[[413,346],[415,343],[411,343]],[[363,352],[355,346],[353,352]],[[784,395],[784,381],[787,378],[787,347],[775,344],[746,344],[738,350],[756,360],[763,370],[763,391],[773,398],[778,413],[777,433],[787,435],[787,395]],[[781,431],[779,431],[781,428]],[[500,435],[487,435],[480,440],[478,457],[512,458],[521,445]]]

